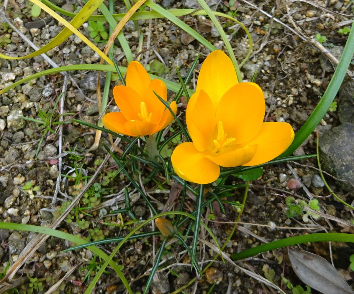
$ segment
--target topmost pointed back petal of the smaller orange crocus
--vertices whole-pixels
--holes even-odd
[[[144,97],[146,89],[149,87],[151,79],[138,61],[132,61],[127,68],[126,86],[135,89],[135,91]]]

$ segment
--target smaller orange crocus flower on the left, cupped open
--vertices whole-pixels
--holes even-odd
[[[123,135],[152,135],[169,125],[173,116],[154,92],[167,101],[164,82],[151,80],[138,61],[132,61],[127,68],[126,86],[113,88],[114,101],[120,112],[109,112],[103,117],[106,128]],[[177,113],[176,101],[170,105]]]

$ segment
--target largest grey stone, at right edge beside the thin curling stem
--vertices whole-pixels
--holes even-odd
[[[347,180],[337,184],[348,192],[354,185],[354,125],[343,123],[325,133],[319,140],[322,168],[331,175]]]

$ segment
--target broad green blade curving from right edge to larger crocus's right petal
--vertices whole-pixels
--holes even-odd
[[[316,106],[315,110],[312,112],[310,117],[301,127],[301,129],[296,133],[294,141],[291,143],[289,148],[281,154],[279,157],[289,156],[293,153],[313,132],[313,130],[317,127],[320,120],[325,116],[328,108],[331,103],[335,99],[339,88],[342,85],[343,79],[347,74],[347,69],[349,67],[350,61],[353,58],[354,54],[354,30],[350,30],[348,40],[346,46],[344,46],[344,50],[339,59],[338,66],[333,73],[333,77],[331,78],[330,83],[328,84],[325,93],[323,94],[320,102]]]

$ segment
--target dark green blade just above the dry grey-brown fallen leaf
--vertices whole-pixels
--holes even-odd
[[[354,243],[353,234],[344,234],[344,233],[317,233],[309,234],[302,236],[289,237],[281,240],[276,240],[273,242],[265,243],[250,249],[246,249],[239,253],[231,254],[230,258],[232,260],[244,259],[247,257],[254,256],[258,253],[265,251],[273,250],[276,248],[293,246],[296,244],[309,243],[309,242],[324,242],[324,241],[333,241],[333,242],[351,242]]]

